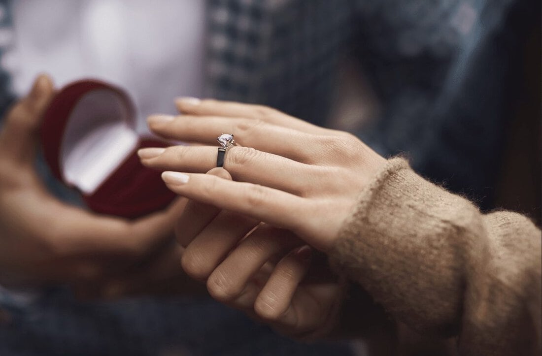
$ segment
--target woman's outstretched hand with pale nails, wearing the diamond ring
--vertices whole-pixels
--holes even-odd
[[[143,164],[165,172],[179,195],[291,230],[329,250],[360,191],[385,159],[352,135],[292,118],[271,108],[215,100],[180,99],[184,115],[149,118],[154,133],[215,145],[222,133],[237,144],[224,168],[237,182],[198,174],[216,165],[216,146],[147,148]]]

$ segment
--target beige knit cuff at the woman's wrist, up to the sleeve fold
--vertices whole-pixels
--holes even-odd
[[[473,214],[478,210],[467,200],[392,158],[360,194],[329,254],[331,266],[397,320],[453,334],[447,328],[458,325],[462,267],[450,220]]]

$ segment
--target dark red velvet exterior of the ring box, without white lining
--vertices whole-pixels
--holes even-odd
[[[64,183],[60,154],[72,110],[83,95],[104,88],[120,94],[133,114],[133,105],[121,89],[95,80],[82,80],[64,87],[55,95],[44,113],[41,131],[43,154],[51,172]],[[139,141],[136,150],[141,147],[165,146],[167,144],[163,141],[143,139]],[[82,197],[95,212],[137,218],[165,208],[175,198],[175,193],[167,189],[160,178],[160,172],[141,165],[134,150],[92,195],[82,194]]]

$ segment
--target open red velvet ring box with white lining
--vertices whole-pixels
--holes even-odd
[[[160,172],[141,165],[136,153],[168,145],[139,137],[134,116],[123,90],[96,80],[64,87],[44,113],[41,140],[47,164],[95,212],[136,218],[175,198]]]

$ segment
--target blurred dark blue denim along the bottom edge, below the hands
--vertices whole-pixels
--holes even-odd
[[[4,300],[0,354],[349,355],[349,346],[295,342],[210,299],[83,303],[63,288]]]

